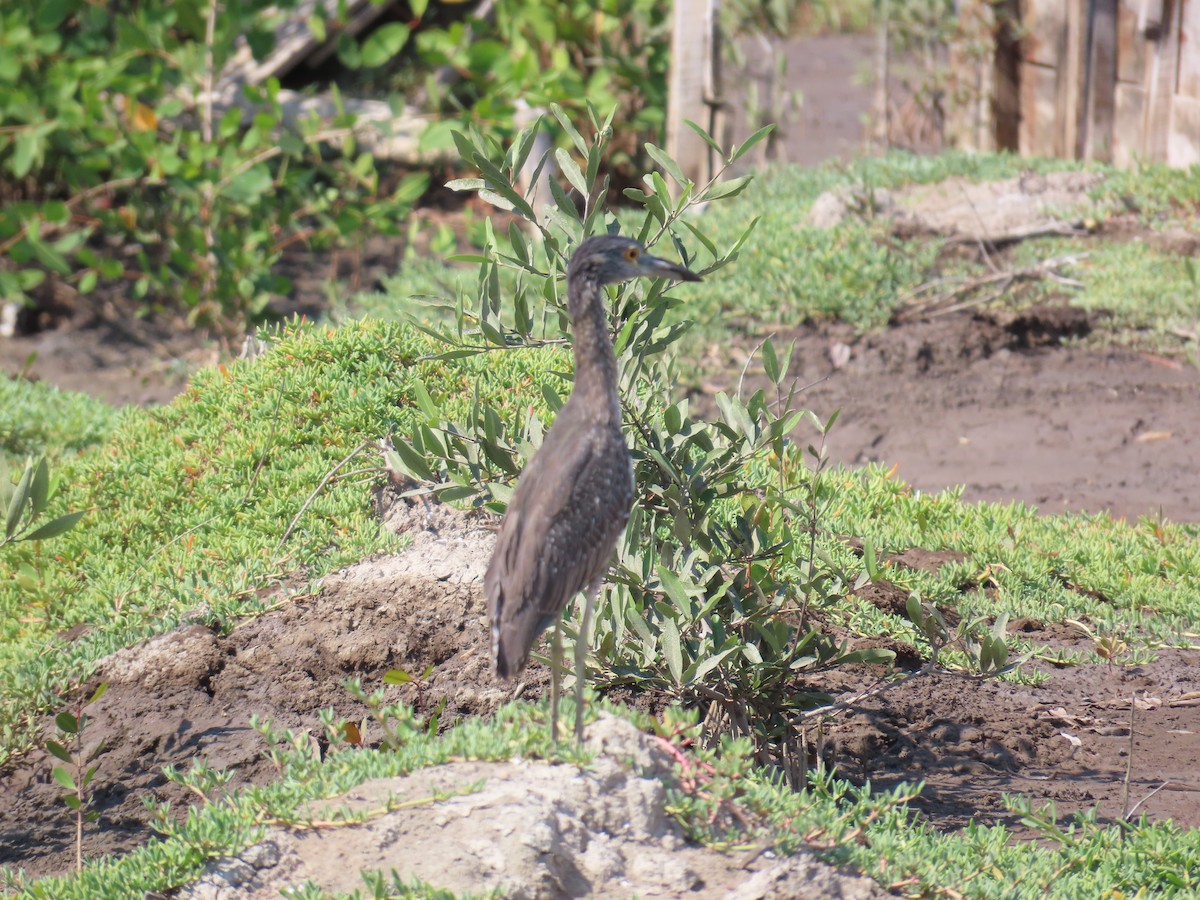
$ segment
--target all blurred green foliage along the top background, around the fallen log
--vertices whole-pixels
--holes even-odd
[[[606,170],[631,184],[661,143],[670,6],[650,0],[407,0],[356,36],[347,4],[299,0],[30,0],[0,12],[0,298],[30,307],[182,312],[234,335],[292,283],[289,247],[358,246],[400,233],[440,170],[389,170],[355,142],[355,116],[284,114],[284,88],[385,98],[436,114],[424,144],[450,150],[464,124],[499,140],[557,104],[618,109]],[[740,0],[724,28],[782,35],[862,26],[868,0]],[[240,48],[263,60],[302,20],[334,53],[304,76],[208,102]],[[737,40],[727,41],[736,48]],[[730,60],[738,64],[739,54]],[[298,82],[298,78],[300,79]],[[344,109],[344,107],[338,106]],[[565,132],[556,136],[565,145]],[[623,176],[623,178],[622,178]]]

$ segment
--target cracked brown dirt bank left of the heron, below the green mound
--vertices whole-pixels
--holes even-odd
[[[430,676],[418,685],[389,686],[389,702],[431,714],[445,701],[439,724],[485,715],[514,688],[491,674],[476,582],[490,553],[484,522],[450,508],[409,506],[382,498],[382,514],[413,545],[394,557],[366,559],[325,580],[320,593],[288,602],[228,636],[190,625],[120,650],[104,660],[92,684],[108,692],[88,710],[85,744],[104,742],[97,758],[97,826],[86,829],[84,854],[128,851],[150,835],[144,797],[185,809],[190,792],[162,775],[196,758],[233,768],[233,785],[276,776],[263,757],[252,713],[280,728],[320,734],[317,713],[332,707],[359,720],[365,709],[346,691],[348,678],[376,686],[402,668]],[[482,562],[480,562],[482,560]],[[532,665],[518,689],[536,697],[545,683]],[[47,721],[47,733],[53,722]],[[368,739],[373,736],[368,734]],[[30,875],[65,871],[74,832],[52,781],[56,764],[37,751],[0,770],[0,865]]]

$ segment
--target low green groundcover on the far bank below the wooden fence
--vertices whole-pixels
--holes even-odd
[[[1078,169],[1063,160],[1024,160],[1009,155],[947,152],[922,157],[893,152],[878,160],[826,164],[815,169],[775,167],[745,188],[742,202],[714,204],[688,221],[716,245],[728,245],[757,222],[752,240],[740,250],[739,265],[708,278],[704,286],[677,289],[682,302],[668,320],[688,319],[694,328],[683,336],[680,356],[700,355],[701,347],[727,341],[730,332],[758,338],[805,322],[838,319],[863,331],[882,328],[904,298],[943,275],[978,276],[983,263],[943,257],[946,241],[890,233],[888,222],[870,215],[851,217],[835,228],[814,228],[809,209],[826,191],[853,190],[869,198],[872,191],[934,184],[961,176],[976,181],[1015,178],[1026,172]],[[1122,214],[1129,197],[1138,198],[1139,227],[1150,230],[1196,224],[1192,199],[1195,186],[1186,174],[1162,166],[1135,172],[1099,168],[1105,179],[1092,192],[1091,218],[1104,223]],[[1145,199],[1142,199],[1145,198]],[[1177,202],[1175,199],[1177,198]],[[638,220],[619,215],[626,232]],[[503,246],[505,236],[497,238]],[[1184,258],[1156,250],[1145,241],[1096,238],[1039,238],[1022,241],[1007,263],[1025,266],[1064,253],[1087,257],[1068,274],[1082,283],[1070,288],[1052,281],[1015,286],[997,305],[1020,308],[1051,300],[1106,312],[1087,338],[1126,343],[1159,352],[1187,349],[1187,335],[1200,320],[1200,288]],[[1001,265],[1006,265],[1002,259]],[[508,271],[502,271],[502,280]],[[365,314],[430,323],[452,318],[456,292],[470,284],[469,269],[433,270],[427,260],[406,262],[384,295],[359,298]],[[502,281],[505,289],[510,283]]]

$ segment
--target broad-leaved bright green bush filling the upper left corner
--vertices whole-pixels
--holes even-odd
[[[290,4],[275,4],[284,8]],[[295,241],[389,228],[425,185],[379,186],[353,119],[284,125],[278,84],[217,116],[205,100],[246,35],[272,46],[266,0],[110,7],[34,0],[0,12],[0,295],[128,284],[143,310],[179,300],[197,323],[240,329],[287,281]],[[340,142],[342,158],[322,148]]]

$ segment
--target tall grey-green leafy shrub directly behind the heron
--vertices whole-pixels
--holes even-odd
[[[529,230],[514,226],[506,235],[490,232],[478,258],[478,289],[474,296],[458,296],[455,325],[425,326],[444,342],[448,359],[568,342],[560,278],[568,258],[584,236],[619,228],[598,202],[607,193],[607,178],[599,173],[611,115],[600,120],[593,113],[595,137],[586,142],[562,110],[554,108],[554,114],[578,154],[577,161],[559,151],[557,160],[586,204],[577,212],[556,186],[558,203],[546,222],[515,187],[533,145],[532,130],[506,150],[476,131],[456,134],[462,157],[482,178],[452,186],[479,191],[511,209]],[[716,150],[732,164],[767,131],[731,154]],[[677,182],[680,198],[672,199],[662,174],[647,175],[642,187],[625,192],[642,211],[640,222],[632,216],[626,230],[649,247],[670,240],[684,263],[703,275],[732,263],[754,223],[732,245],[719,248],[688,214],[695,204],[737,194],[749,178],[695,185],[660,149],[646,150]],[[689,252],[689,245],[698,246]],[[502,270],[510,286],[503,299]],[[668,352],[686,324],[668,319],[683,301],[665,294],[665,287],[655,282],[638,296],[637,287],[626,284],[613,294],[614,349],[637,469],[637,502],[599,607],[596,634],[578,637],[570,628],[566,632],[592,643],[594,680],[634,682],[715,702],[720,714],[714,725],[752,734],[760,748],[781,751],[799,727],[800,713],[824,700],[802,689],[804,674],[832,665],[882,662],[893,654],[851,652],[815,629],[806,614],[845,584],[815,565],[810,540],[815,522],[808,512],[816,515],[824,500],[822,466],[815,450],[815,466],[805,466],[800,450],[787,440],[802,413],[792,408],[784,388],[786,354],[763,346],[775,396],[758,391],[743,402],[719,395],[721,419],[695,419],[686,401],[670,397],[674,370]],[[424,397],[425,421],[410,432],[409,442],[397,442],[397,463],[444,497],[475,498],[502,509],[540,442],[541,420],[530,415],[506,421],[476,403],[468,418],[455,421],[431,392],[418,396]],[[557,392],[547,401],[551,408],[563,402]],[[808,512],[797,509],[799,496],[811,498]],[[793,515],[797,511],[800,516]]]

